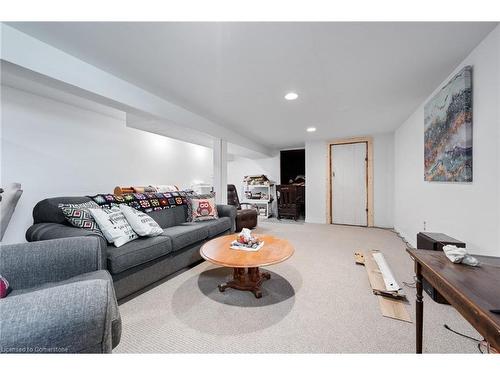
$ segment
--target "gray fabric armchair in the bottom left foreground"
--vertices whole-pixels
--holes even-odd
[[[113,281],[97,237],[0,247],[2,353],[108,353],[120,342]]]

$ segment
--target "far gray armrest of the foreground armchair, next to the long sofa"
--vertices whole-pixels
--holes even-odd
[[[100,240],[95,236],[3,245],[0,274],[12,289],[33,288],[102,269]]]

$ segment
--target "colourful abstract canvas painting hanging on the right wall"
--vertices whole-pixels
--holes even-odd
[[[466,66],[424,108],[425,180],[472,182],[472,67]]]

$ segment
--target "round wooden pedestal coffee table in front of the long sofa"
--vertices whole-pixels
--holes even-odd
[[[231,242],[236,234],[217,237],[206,242],[200,249],[203,259],[219,266],[233,268],[233,279],[220,284],[219,290],[227,288],[251,291],[256,298],[262,297],[260,286],[264,280],[269,280],[268,272],[260,272],[259,267],[283,262],[293,255],[294,248],[287,240],[260,235],[264,246],[258,251],[231,249]]]

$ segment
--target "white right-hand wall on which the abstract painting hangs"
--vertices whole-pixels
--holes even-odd
[[[395,228],[415,245],[426,221],[427,231],[500,256],[500,27],[442,85],[465,65],[473,66],[473,182],[424,181],[423,107],[433,93],[395,133]]]

